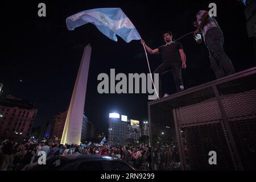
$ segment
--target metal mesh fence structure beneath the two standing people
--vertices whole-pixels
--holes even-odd
[[[149,102],[148,114],[153,170],[256,169],[256,67]]]

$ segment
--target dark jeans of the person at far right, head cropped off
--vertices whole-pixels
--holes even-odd
[[[224,36],[220,28],[211,28],[205,34],[205,44],[210,55],[210,65],[216,75],[221,78],[235,72],[233,64],[223,49]]]

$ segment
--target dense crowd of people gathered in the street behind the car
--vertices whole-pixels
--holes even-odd
[[[0,171],[19,171],[27,164],[38,162],[39,152],[44,151],[47,158],[55,155],[108,155],[125,160],[131,166],[151,169],[151,148],[142,146],[109,146],[90,143],[89,145],[59,144],[49,142],[13,142],[0,140]]]

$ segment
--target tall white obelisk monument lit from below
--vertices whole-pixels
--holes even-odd
[[[75,87],[73,89],[71,102],[61,138],[61,144],[80,144],[82,133],[82,116],[84,114],[84,102],[88,80],[90,53],[92,47],[88,44],[84,48],[82,60],[77,73]]]

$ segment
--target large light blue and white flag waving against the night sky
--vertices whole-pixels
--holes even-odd
[[[94,24],[102,34],[117,42],[117,36],[121,36],[125,42],[140,40],[141,36],[131,23],[130,19],[120,8],[99,8],[85,10],[66,19],[68,30],[86,23]]]

